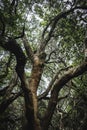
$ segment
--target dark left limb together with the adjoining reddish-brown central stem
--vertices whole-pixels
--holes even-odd
[[[34,56],[34,64],[33,64],[33,70],[31,74],[31,80],[29,81],[29,84],[26,81],[26,76],[24,73],[24,67],[26,64],[26,57],[24,55],[24,52],[18,45],[15,39],[9,39],[8,42],[1,41],[1,46],[12,52],[17,61],[16,65],[16,72],[21,80],[21,87],[24,91],[24,99],[25,99],[25,107],[26,107],[26,118],[27,118],[27,128],[31,130],[41,130],[40,123],[37,118],[37,97],[36,97],[36,90],[38,87],[38,84],[40,82],[41,74],[44,67],[44,61],[45,57],[43,57],[43,54],[37,56]]]

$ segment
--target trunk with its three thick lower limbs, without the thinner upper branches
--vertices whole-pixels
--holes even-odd
[[[31,76],[29,78],[29,81],[27,82],[25,72],[24,72],[26,58],[18,43],[14,39],[10,39],[5,44],[3,44],[2,42],[2,47],[14,53],[16,56],[16,60],[17,60],[16,72],[21,80],[21,87],[24,91],[25,108],[26,108],[25,116],[27,122],[23,129],[24,130],[48,130],[55,107],[57,105],[59,91],[72,78],[77,77],[83,74],[85,71],[87,71],[87,62],[84,62],[82,65],[70,69],[59,79],[57,79],[57,76],[54,77],[53,81],[56,80],[56,82],[54,84],[52,83],[50,84],[50,86],[53,89],[51,90],[51,97],[49,99],[47,111],[44,117],[39,120],[37,115],[37,111],[38,111],[37,88],[43,73],[46,53],[38,51],[37,53],[34,54],[31,51],[31,54],[29,54],[32,55],[33,67],[32,67]],[[28,47],[29,46],[27,46],[27,48]],[[44,94],[42,94],[42,97],[44,97]]]

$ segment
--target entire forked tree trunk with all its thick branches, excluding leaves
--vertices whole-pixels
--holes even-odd
[[[13,2],[15,1],[13,0]],[[52,43],[49,44],[49,42],[51,38],[54,37],[54,34],[55,34],[54,32],[56,30],[56,27],[58,26],[57,23],[61,19],[66,19],[66,17],[69,14],[74,13],[74,11],[77,11],[78,9],[86,10],[87,6],[73,6],[72,5],[72,7],[68,8],[66,11],[63,11],[60,13],[58,11],[58,14],[56,16],[53,15],[54,18],[51,19],[51,21],[47,24],[47,26],[45,27],[42,33],[41,42],[39,44],[39,47],[37,47],[36,52],[33,51],[32,47],[29,44],[29,41],[27,40],[26,35],[24,34],[20,36],[19,38],[21,38],[23,47],[25,48],[26,52],[24,52],[24,50],[20,47],[16,38],[9,37],[9,35],[8,37],[6,37],[6,35],[4,35],[5,29],[3,29],[2,31],[3,33],[0,34],[0,46],[4,48],[6,51],[9,51],[10,53],[14,54],[16,58],[15,70],[21,82],[21,88],[22,88],[24,101],[25,101],[26,122],[23,126],[23,130],[48,130],[55,108],[58,103],[58,98],[59,98],[58,96],[59,96],[60,90],[71,79],[79,75],[82,75],[84,72],[87,71],[87,57],[86,57],[86,60],[84,60],[84,62],[81,65],[71,67],[71,68],[66,67],[65,69],[63,68],[64,73],[62,74],[62,76],[58,77],[60,73],[60,71],[58,70],[56,75],[52,77],[53,79],[49,83],[47,89],[40,96],[37,96],[37,89],[40,85],[40,81],[42,78],[45,65],[50,60],[51,55],[55,54],[56,49],[52,50],[50,54],[47,56],[48,52],[46,50],[47,49],[46,47],[48,47],[48,51],[49,51],[48,45],[50,45],[51,47]],[[87,37],[85,38],[85,45],[87,45]],[[86,50],[87,50],[87,46],[86,46]],[[27,58],[25,56],[25,53],[27,55]],[[31,70],[29,79],[27,79],[27,76],[25,73],[25,65],[26,65],[27,60],[29,60],[32,65],[32,70]],[[59,57],[59,60],[62,62],[61,57]],[[12,87],[14,87],[14,85],[11,83],[9,91],[12,90]],[[49,100],[48,100],[46,111],[44,112],[43,117],[39,117],[38,116],[38,101],[46,97],[49,92],[50,92],[50,96],[48,97]],[[14,95],[14,96],[9,96],[9,92],[7,94],[8,94],[8,98],[5,98],[5,101],[0,104],[0,114],[4,113],[8,105],[10,105],[18,96],[20,96],[21,93],[19,93],[19,95]]]

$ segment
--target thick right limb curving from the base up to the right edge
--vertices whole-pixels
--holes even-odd
[[[82,65],[78,66],[77,68],[70,69],[67,73],[64,74],[64,76],[62,76],[60,79],[58,79],[56,81],[56,83],[53,86],[53,90],[51,92],[51,98],[50,98],[49,104],[48,104],[48,109],[45,113],[44,120],[43,120],[44,130],[48,129],[48,126],[52,119],[52,115],[53,115],[55,107],[57,105],[59,91],[72,78],[82,75],[86,71],[87,71],[87,62],[83,63]]]

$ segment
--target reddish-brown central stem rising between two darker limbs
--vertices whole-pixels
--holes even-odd
[[[34,64],[32,68],[32,74],[29,80],[29,87],[31,89],[32,96],[33,96],[35,130],[41,130],[40,121],[37,117],[37,108],[38,108],[37,88],[43,72],[45,59],[43,60],[40,58],[42,57],[39,57],[39,55],[36,54],[34,55]]]

